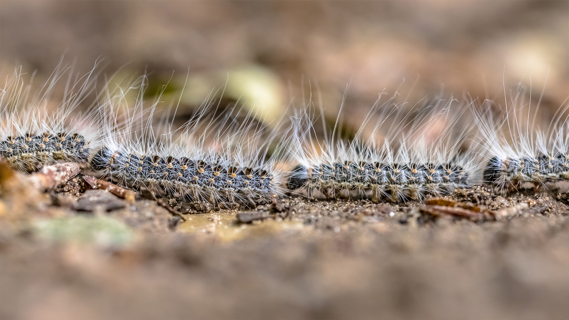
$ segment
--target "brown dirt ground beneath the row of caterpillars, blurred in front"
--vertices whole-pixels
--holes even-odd
[[[2,224],[0,318],[569,318],[567,194],[475,186],[446,211],[299,197],[182,221],[67,189]]]

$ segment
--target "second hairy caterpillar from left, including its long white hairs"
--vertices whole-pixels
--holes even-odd
[[[103,147],[93,169],[124,186],[214,205],[254,205],[283,194],[283,173],[275,167],[280,149],[265,158],[278,129],[269,130],[251,112],[238,120],[243,110],[220,108],[209,99],[182,128],[172,130],[168,116],[154,126],[159,99],[144,108],[146,81],[143,76],[126,91],[107,88]],[[138,91],[130,108],[129,91]]]

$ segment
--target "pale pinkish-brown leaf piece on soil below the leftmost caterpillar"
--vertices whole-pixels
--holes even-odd
[[[57,163],[43,167],[42,170],[32,174],[28,181],[40,190],[51,190],[75,177],[79,170],[80,167],[75,162]]]

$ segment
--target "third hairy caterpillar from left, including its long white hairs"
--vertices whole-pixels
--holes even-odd
[[[470,128],[455,129],[465,110],[463,102],[440,99],[403,114],[405,106],[393,104],[394,97],[380,104],[380,94],[351,141],[337,138],[338,120],[324,141],[312,137],[314,121],[306,120],[310,116],[298,120],[298,143],[292,148],[298,165],[288,188],[306,190],[309,196],[316,190],[326,198],[397,202],[448,194],[479,179],[475,146],[461,150]],[[372,118],[378,119],[375,124],[370,124]],[[364,139],[366,130],[369,138]]]

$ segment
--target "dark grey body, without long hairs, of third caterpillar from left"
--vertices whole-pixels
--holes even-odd
[[[314,189],[327,198],[337,198],[342,192],[360,195],[374,202],[421,199],[427,194],[448,194],[468,186],[469,173],[452,165],[380,162],[344,162],[314,166],[296,166],[288,179],[290,190],[306,188],[311,196]],[[355,193],[355,194],[354,194]]]

